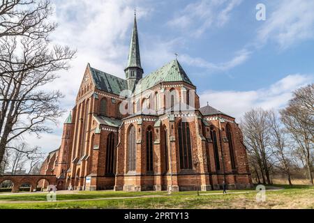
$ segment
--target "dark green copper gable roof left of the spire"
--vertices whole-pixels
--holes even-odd
[[[95,68],[89,68],[91,70],[91,76],[94,79],[96,89],[113,93],[115,95],[120,95],[121,91],[128,89],[128,84],[125,79],[96,70]]]

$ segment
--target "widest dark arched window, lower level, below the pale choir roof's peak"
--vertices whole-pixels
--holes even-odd
[[[190,143],[190,125],[180,122],[178,127],[179,136],[179,156],[181,169],[193,169],[192,149]]]

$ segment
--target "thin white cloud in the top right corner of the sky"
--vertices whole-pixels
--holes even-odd
[[[258,40],[261,43],[274,40],[282,49],[286,49],[301,40],[314,38],[313,9],[314,1],[279,1],[276,10],[258,31]]]

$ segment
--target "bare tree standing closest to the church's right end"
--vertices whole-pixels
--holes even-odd
[[[255,162],[255,170],[260,171],[262,182],[271,184],[270,172],[273,162],[271,160],[271,124],[269,112],[263,109],[252,109],[246,112],[241,121],[244,134],[244,144],[248,151],[248,157]],[[257,169],[258,167],[258,169]]]

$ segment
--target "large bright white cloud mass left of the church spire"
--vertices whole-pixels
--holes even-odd
[[[142,1],[137,1],[137,18],[141,20],[151,11],[143,8]],[[130,29],[133,26],[133,2],[120,1],[85,1],[55,0],[55,15],[51,20],[59,24],[51,36],[53,43],[68,45],[77,49],[77,56],[70,62],[71,69],[58,73],[59,79],[45,86],[49,91],[60,90],[65,98],[61,107],[70,111],[75,106],[75,98],[84,75],[87,63],[118,77],[124,77],[124,66],[128,56]],[[126,41],[127,40],[127,41]],[[52,134],[25,135],[30,146],[40,146],[43,151],[52,151],[61,144],[61,130],[68,112],[59,118],[59,125],[47,123],[54,132]]]

